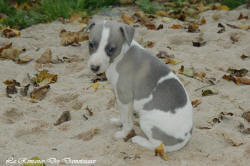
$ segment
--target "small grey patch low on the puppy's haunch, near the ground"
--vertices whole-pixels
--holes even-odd
[[[173,137],[171,135],[166,134],[160,128],[155,127],[155,126],[151,129],[151,131],[152,131],[152,137],[154,139],[162,141],[162,143],[164,145],[167,145],[167,146],[176,145],[176,144],[181,143],[181,142],[184,141],[181,138],[175,138],[175,137]]]

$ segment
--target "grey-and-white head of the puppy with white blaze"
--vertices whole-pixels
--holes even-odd
[[[134,28],[114,21],[92,20],[85,31],[88,30],[88,66],[95,73],[105,72],[134,37]]]

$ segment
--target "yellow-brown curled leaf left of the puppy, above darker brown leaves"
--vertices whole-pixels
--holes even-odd
[[[56,74],[50,74],[48,70],[42,70],[36,77],[31,78],[35,84],[46,85],[57,81]]]

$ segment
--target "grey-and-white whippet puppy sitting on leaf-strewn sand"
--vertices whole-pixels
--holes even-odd
[[[89,30],[88,66],[94,73],[106,72],[112,84],[122,124],[115,133],[124,138],[133,129],[133,111],[139,115],[143,136],[132,142],[154,150],[176,151],[192,134],[192,105],[181,81],[166,64],[133,40],[134,28],[114,21],[92,20]]]

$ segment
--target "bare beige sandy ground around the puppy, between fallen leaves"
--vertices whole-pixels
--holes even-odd
[[[119,11],[133,9],[118,8],[114,10],[113,19],[120,19]],[[212,15],[217,13],[218,20],[214,21]],[[246,166],[250,163],[250,135],[240,132],[238,125],[243,123],[250,127],[250,123],[241,115],[250,109],[250,88],[247,85],[237,86],[233,82],[222,79],[226,70],[231,68],[246,68],[250,70],[250,61],[242,60],[242,54],[250,56],[249,30],[232,29],[226,26],[224,33],[218,34],[219,22],[239,25],[250,24],[250,19],[245,22],[238,20],[242,12],[250,16],[250,11],[242,8],[233,11],[206,11],[201,15],[207,23],[200,26],[204,33],[205,46],[193,47],[192,40],[199,33],[188,33],[186,29],[169,29],[174,23],[183,24],[172,20],[163,23],[164,29],[159,31],[147,30],[140,26],[136,28],[136,40],[153,41],[155,46],[147,48],[156,55],[159,51],[174,54],[183,63],[171,65],[172,70],[178,71],[181,65],[193,67],[196,71],[205,72],[207,78],[216,78],[216,85],[211,88],[219,90],[218,95],[202,97],[201,90],[196,90],[207,83],[194,78],[178,74],[189,92],[192,100],[199,99],[201,104],[194,108],[194,131],[191,141],[185,148],[177,152],[167,153],[169,161],[155,157],[154,152],[146,150],[131,141],[116,141],[113,134],[117,127],[109,123],[111,117],[117,117],[119,112],[112,104],[114,93],[108,82],[100,82],[100,89],[96,92],[87,89],[92,83],[94,75],[87,68],[88,49],[87,41],[81,46],[64,47],[60,45],[59,32],[65,28],[71,31],[81,29],[79,24],[62,24],[59,21],[50,24],[39,24],[21,31],[21,37],[6,39],[0,37],[0,42],[11,41],[13,47],[24,47],[26,52],[21,56],[29,55],[34,59],[47,49],[52,50],[52,57],[74,57],[78,60],[72,63],[51,64],[44,67],[50,73],[58,75],[58,81],[51,84],[51,89],[46,97],[38,103],[31,103],[17,95],[7,98],[6,86],[2,83],[7,79],[16,79],[22,85],[28,83],[27,73],[36,74],[36,62],[20,65],[10,60],[0,60],[0,165],[13,157],[31,158],[38,156],[41,159],[64,158],[94,159],[93,165],[235,165]],[[96,16],[102,17],[102,16]],[[162,18],[155,20],[156,24],[162,23]],[[232,43],[230,36],[236,33],[239,41]],[[169,50],[170,46],[172,50]],[[39,68],[38,70],[41,70]],[[224,70],[224,71],[223,71]],[[249,74],[247,75],[249,77]],[[86,106],[93,111],[93,116],[88,116]],[[72,119],[59,126],[53,124],[63,111],[70,111]],[[231,112],[233,116],[226,116],[221,123],[210,125],[213,117],[218,117],[220,112]],[[86,120],[83,115],[88,116]],[[198,129],[197,126],[208,126],[211,129]],[[100,129],[100,133],[89,141],[73,138],[79,133],[90,129]],[[140,133],[140,129],[136,132]],[[236,143],[239,146],[233,146]],[[63,164],[61,165],[70,165]],[[47,166],[53,165],[46,163]],[[73,164],[77,165],[77,164]]]

